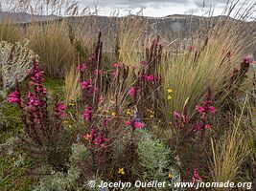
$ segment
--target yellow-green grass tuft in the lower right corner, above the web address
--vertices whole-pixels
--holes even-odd
[[[213,163],[211,165],[214,181],[225,182],[238,180],[240,167],[250,152],[246,134],[243,131],[242,117],[234,117],[233,124],[224,133],[222,138],[211,138]]]

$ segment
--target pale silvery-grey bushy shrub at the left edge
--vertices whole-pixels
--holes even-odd
[[[38,56],[29,49],[29,41],[0,42],[0,75],[3,81],[3,90],[15,85],[15,80],[22,81],[32,67],[32,59]]]

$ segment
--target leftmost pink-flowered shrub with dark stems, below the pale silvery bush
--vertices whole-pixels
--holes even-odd
[[[8,96],[21,112],[27,138],[21,138],[22,148],[33,159],[50,164],[55,170],[65,171],[70,152],[70,141],[62,125],[65,106],[58,100],[51,112],[48,106],[47,90],[43,86],[43,71],[34,60],[29,72],[30,82],[27,96],[22,96],[18,83],[16,90]]]

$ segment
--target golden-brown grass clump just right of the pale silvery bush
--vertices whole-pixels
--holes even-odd
[[[49,76],[63,76],[65,70],[77,62],[65,21],[32,25],[26,36],[31,41],[31,48],[40,56],[42,69]]]

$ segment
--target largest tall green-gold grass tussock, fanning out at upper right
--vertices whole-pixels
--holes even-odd
[[[182,111],[188,97],[188,111],[193,116],[195,105],[204,99],[208,88],[214,95],[225,91],[233,69],[242,62],[247,47],[256,42],[253,38],[247,41],[245,29],[243,22],[220,19],[207,33],[196,34],[185,42],[175,42],[178,44],[175,53],[170,53],[163,61],[161,72],[165,87],[162,106],[168,119],[172,118],[170,112]],[[173,90],[171,100],[167,99],[167,88]],[[228,93],[215,105],[220,106],[226,96]]]

